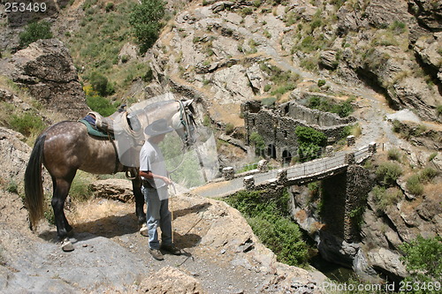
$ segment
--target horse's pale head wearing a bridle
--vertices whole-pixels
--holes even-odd
[[[185,147],[191,147],[196,142],[196,124],[194,121],[193,100],[177,101],[179,111],[171,117],[171,127],[179,134]]]

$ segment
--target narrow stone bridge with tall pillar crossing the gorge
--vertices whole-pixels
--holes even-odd
[[[222,198],[243,190],[278,190],[323,180],[324,188],[331,195],[324,213],[324,222],[330,224],[328,230],[346,241],[354,241],[359,237],[354,215],[371,189],[367,170],[357,164],[374,153],[376,143],[370,143],[354,152],[340,152],[280,170],[267,170],[263,162],[258,169],[239,174],[232,168],[225,168],[223,178],[196,188],[194,192],[204,197]]]

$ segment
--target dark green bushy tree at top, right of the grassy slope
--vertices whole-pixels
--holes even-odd
[[[164,12],[164,1],[141,0],[141,4],[137,4],[130,14],[129,23],[133,26],[141,54],[146,53],[158,39]]]

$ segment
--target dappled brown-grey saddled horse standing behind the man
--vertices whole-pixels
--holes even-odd
[[[137,122],[137,128],[141,129],[142,142],[146,139],[142,132],[144,128],[157,119],[165,118],[179,134],[183,145],[189,147],[194,143],[195,130],[194,108],[191,103],[191,100],[172,100],[150,105],[142,103],[141,106],[134,104],[135,107],[127,109],[127,117],[131,117],[132,122]],[[124,136],[120,138],[127,139]],[[135,147],[138,147],[138,149],[135,148],[138,153],[132,152],[134,156],[131,157],[135,158],[135,160],[132,159],[134,163],[129,162],[125,165],[121,162],[122,157],[118,155],[114,140],[90,135],[87,126],[81,122],[62,121],[45,129],[35,140],[25,171],[25,204],[28,209],[30,229],[36,228],[44,214],[42,166],[48,170],[52,179],[51,206],[55,215],[57,237],[62,242],[61,246],[64,251],[73,250],[68,237],[71,235],[72,226],[65,217],[64,207],[77,170],[93,174],[115,174],[126,171],[126,176],[132,175],[130,178],[135,198],[135,215],[140,225],[146,222],[141,177],[138,175],[139,159],[137,158],[142,142],[141,144],[132,142]]]

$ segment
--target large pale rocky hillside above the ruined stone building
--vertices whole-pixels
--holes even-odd
[[[299,73],[300,81],[331,74],[354,87],[366,82],[396,109],[440,122],[439,19],[440,5],[431,0],[341,6],[297,0],[257,9],[243,1],[191,3],[151,50],[152,68],[162,85],[198,89],[210,116],[225,124],[239,120],[220,115],[214,104],[237,111],[241,102],[279,96],[277,89],[296,84],[291,77],[282,85],[274,79],[278,71]],[[304,74],[304,64],[318,77]]]

